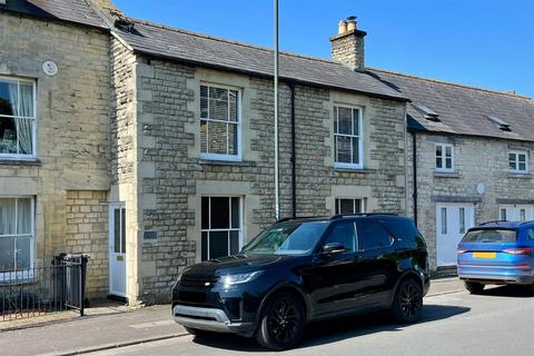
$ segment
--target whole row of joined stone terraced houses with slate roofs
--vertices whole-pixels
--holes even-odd
[[[433,268],[473,224],[530,218],[532,101],[367,69],[365,36],[280,55],[283,216],[416,216]],[[0,0],[0,265],[88,253],[89,297],[168,299],[274,221],[273,87],[269,49]]]

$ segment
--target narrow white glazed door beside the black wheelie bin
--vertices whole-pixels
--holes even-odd
[[[126,298],[126,209],[109,206],[109,294]]]

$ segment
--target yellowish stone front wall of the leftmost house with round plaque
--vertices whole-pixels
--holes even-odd
[[[37,160],[0,160],[0,196],[34,198],[36,259],[48,263],[70,248],[67,191],[109,189],[109,33],[0,12],[0,76],[37,82]]]

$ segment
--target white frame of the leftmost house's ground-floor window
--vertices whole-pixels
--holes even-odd
[[[30,238],[30,266],[22,269],[17,269],[14,266],[13,270],[9,270],[9,267],[6,271],[0,273],[0,281],[8,281],[13,279],[23,279],[27,280],[28,278],[33,278],[33,268],[36,263],[36,199],[32,196],[0,196],[0,199],[16,199],[14,202],[14,220],[16,220],[16,229],[18,227],[18,200],[19,199],[30,199],[31,201],[31,229],[30,234],[14,234],[14,235],[0,235],[0,239],[4,237],[16,237],[16,238]],[[0,270],[3,269],[4,266],[0,266]]]

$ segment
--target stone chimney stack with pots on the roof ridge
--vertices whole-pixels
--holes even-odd
[[[330,37],[332,59],[355,70],[364,69],[364,37],[366,34],[356,28],[355,16],[339,21],[338,33]]]

